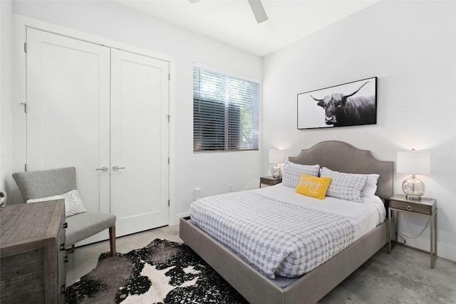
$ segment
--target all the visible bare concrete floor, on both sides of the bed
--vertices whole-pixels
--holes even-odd
[[[117,251],[127,253],[154,239],[182,242],[179,226],[165,226],[116,239]],[[68,253],[66,285],[95,268],[98,257],[109,251],[109,242],[90,244]],[[456,303],[456,262],[430,256],[404,246],[388,254],[386,246],[331,290],[319,303]]]

